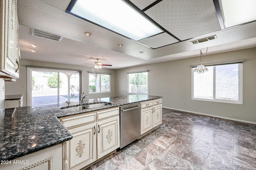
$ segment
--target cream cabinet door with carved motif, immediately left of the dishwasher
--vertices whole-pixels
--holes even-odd
[[[119,116],[99,121],[98,127],[98,159],[120,147]]]

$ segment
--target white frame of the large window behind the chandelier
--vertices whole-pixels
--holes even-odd
[[[218,65],[227,65],[227,64],[238,64],[238,100],[224,100],[216,99],[216,66]],[[191,98],[192,100],[208,101],[208,102],[221,102],[221,103],[230,103],[230,104],[243,104],[243,63],[226,63],[226,64],[214,64],[214,65],[205,65],[213,66],[213,99],[204,99],[204,98],[194,98],[194,68],[192,67],[191,71]],[[201,73],[204,74],[204,73]]]

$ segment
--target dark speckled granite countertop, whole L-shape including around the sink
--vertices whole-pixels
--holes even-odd
[[[17,107],[13,117],[13,109],[0,109],[0,160],[12,160],[72,139],[72,135],[58,121],[60,117],[160,98],[162,97],[134,94],[85,100],[83,104],[95,101],[112,105],[72,112],[60,109],[67,107],[66,103]],[[81,102],[71,102],[70,105],[78,106]]]

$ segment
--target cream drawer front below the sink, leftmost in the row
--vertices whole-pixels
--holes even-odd
[[[86,115],[80,115],[80,116],[62,119],[61,123],[66,128],[71,128],[71,127],[75,127],[75,126],[85,125],[88,123],[93,123],[95,121],[96,121],[96,113],[90,113],[90,114],[86,114]]]

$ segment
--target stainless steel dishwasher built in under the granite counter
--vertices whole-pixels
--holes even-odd
[[[140,138],[140,103],[120,107],[120,149]]]

